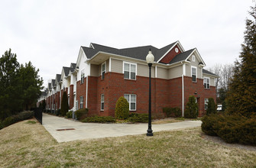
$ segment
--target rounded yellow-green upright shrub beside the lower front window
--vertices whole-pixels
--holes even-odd
[[[129,116],[129,104],[124,97],[120,97],[115,105],[115,118],[124,120]]]

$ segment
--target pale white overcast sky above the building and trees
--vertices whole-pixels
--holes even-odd
[[[40,69],[47,86],[63,66],[76,63],[90,43],[161,48],[177,40],[194,47],[206,63],[234,63],[241,51],[245,19],[255,0],[3,0],[0,54],[11,48],[19,63]]]

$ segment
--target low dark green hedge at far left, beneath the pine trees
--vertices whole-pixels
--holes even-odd
[[[15,124],[18,121],[28,120],[33,117],[34,117],[34,111],[22,111],[17,115],[13,115],[8,118],[5,118],[5,120],[0,123],[0,129],[8,127],[11,124]]]

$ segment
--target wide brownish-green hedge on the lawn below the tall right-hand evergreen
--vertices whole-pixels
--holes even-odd
[[[202,121],[202,131],[208,135],[217,135],[228,143],[256,145],[255,116],[215,114],[204,116]]]

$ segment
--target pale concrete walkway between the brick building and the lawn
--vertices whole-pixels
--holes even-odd
[[[153,124],[153,133],[157,131],[195,128],[201,121],[182,121],[170,124]],[[121,137],[133,134],[146,134],[147,124],[96,124],[82,123],[43,113],[44,128],[58,141],[76,141],[100,137]],[[57,131],[66,129],[64,131]],[[69,130],[70,129],[70,130]]]

